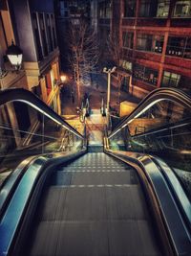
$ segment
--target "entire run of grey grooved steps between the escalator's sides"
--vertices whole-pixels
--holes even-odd
[[[100,152],[58,168],[25,255],[161,255],[136,172]]]

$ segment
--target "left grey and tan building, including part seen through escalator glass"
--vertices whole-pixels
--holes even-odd
[[[23,51],[23,63],[17,72],[12,72],[13,67],[6,57],[12,41]],[[53,1],[0,1],[0,71],[1,90],[25,88],[36,94],[55,112],[61,113],[58,86],[59,50]],[[30,134],[36,133],[38,136],[39,133],[39,116],[32,107],[24,107],[22,103],[2,105],[0,123],[0,151],[3,154],[9,145],[12,151],[28,146],[32,139]],[[24,132],[25,130],[28,132]],[[7,138],[6,134],[9,132],[14,136]]]

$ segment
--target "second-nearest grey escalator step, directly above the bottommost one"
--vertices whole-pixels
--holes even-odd
[[[41,204],[41,221],[145,220],[146,204],[138,185],[51,187]]]

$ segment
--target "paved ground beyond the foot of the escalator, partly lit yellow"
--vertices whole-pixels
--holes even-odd
[[[62,115],[66,121],[80,133],[83,133],[84,124],[80,122],[76,112],[76,93],[74,91],[74,84],[66,84],[61,93]],[[106,125],[106,118],[102,117],[100,113],[100,106],[102,99],[106,105],[107,101],[107,80],[103,75],[98,77],[93,76],[93,81],[90,86],[81,87],[81,95],[87,94],[89,96],[89,103],[91,107],[91,115],[86,118],[86,130],[89,138],[89,145],[102,145],[103,132]],[[129,101],[138,103],[138,99],[131,96],[129,93],[121,91],[120,101]],[[111,87],[111,106],[119,112],[118,105],[118,89]]]

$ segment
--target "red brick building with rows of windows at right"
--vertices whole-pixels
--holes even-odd
[[[191,1],[98,0],[97,12],[100,33],[118,37],[123,88],[141,98],[162,86],[191,94]]]

